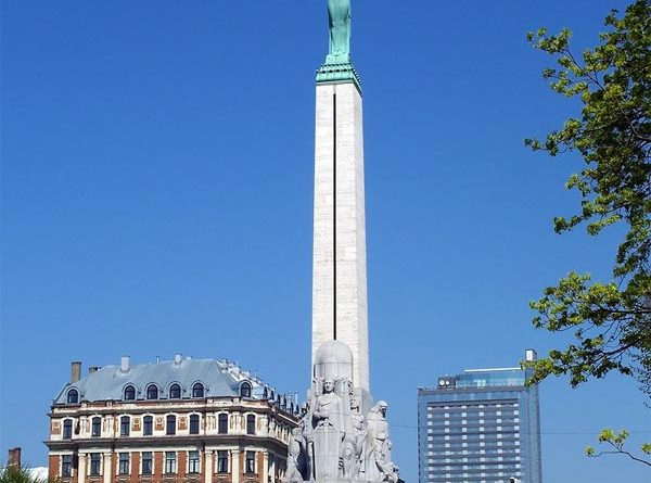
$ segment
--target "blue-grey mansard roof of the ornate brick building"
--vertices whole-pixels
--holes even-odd
[[[136,399],[146,396],[146,387],[156,384],[158,398],[168,397],[169,386],[178,383],[181,386],[181,397],[192,396],[192,386],[201,382],[206,397],[237,396],[240,385],[248,381],[252,385],[252,396],[263,398],[265,389],[267,395],[273,391],[257,377],[242,370],[227,360],[191,359],[177,356],[175,360],[164,360],[150,364],[122,366],[104,366],[82,377],[75,383],[67,383],[54,399],[54,404],[66,404],[67,394],[72,389],[79,392],[79,402],[122,401],[125,387],[129,384],[136,387]],[[273,391],[276,393],[276,391]]]

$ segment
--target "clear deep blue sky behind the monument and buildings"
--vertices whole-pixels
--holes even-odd
[[[371,385],[417,481],[416,391],[562,336],[527,302],[608,276],[620,232],[558,237],[575,156],[529,153],[576,110],[540,78],[539,26],[597,41],[621,1],[357,0],[365,89]],[[181,352],[309,384],[314,76],[326,1],[2,2],[0,454],[46,465],[69,363]],[[651,440],[621,377],[540,387],[548,482],[648,481],[592,460],[605,425]]]

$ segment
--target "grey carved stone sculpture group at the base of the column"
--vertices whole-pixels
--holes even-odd
[[[381,401],[366,416],[360,412],[353,382],[345,376],[352,366],[346,351],[345,344],[333,341],[317,353],[308,403],[290,438],[284,483],[398,481],[391,458],[387,405]]]

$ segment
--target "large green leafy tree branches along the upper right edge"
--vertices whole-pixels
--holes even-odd
[[[580,102],[580,115],[566,119],[546,139],[526,139],[551,156],[580,154],[583,170],[566,188],[580,194],[580,208],[554,218],[562,233],[584,226],[598,236],[611,225],[625,228],[613,260],[612,279],[570,272],[532,302],[534,325],[552,332],[573,330],[573,342],[532,365],[538,382],[569,374],[573,386],[611,370],[634,376],[651,395],[651,5],[631,3],[611,11],[600,42],[576,55],[571,31],[527,35],[557,62],[542,72],[556,92]]]

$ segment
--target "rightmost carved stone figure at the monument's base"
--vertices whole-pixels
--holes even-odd
[[[388,437],[386,408],[387,404],[381,401],[369,410],[367,417],[365,480],[397,483],[398,467],[391,460],[391,438]]]

